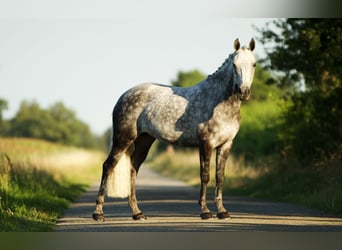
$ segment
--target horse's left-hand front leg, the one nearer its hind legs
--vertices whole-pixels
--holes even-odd
[[[210,179],[210,158],[212,153],[212,148],[206,142],[200,144],[199,147],[200,153],[200,176],[201,176],[201,190],[200,190],[200,199],[198,201],[201,206],[202,213],[200,214],[202,219],[210,219],[213,218],[212,213],[210,212],[207,206],[207,185]]]

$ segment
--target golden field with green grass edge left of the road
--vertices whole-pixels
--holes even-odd
[[[0,231],[51,231],[64,209],[100,178],[101,152],[0,138]]]

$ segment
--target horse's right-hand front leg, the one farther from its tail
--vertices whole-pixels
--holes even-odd
[[[232,141],[228,141],[216,149],[216,190],[215,190],[215,203],[217,206],[217,218],[227,219],[230,218],[229,213],[223,206],[222,189],[224,181],[224,169],[226,161],[232,147]]]

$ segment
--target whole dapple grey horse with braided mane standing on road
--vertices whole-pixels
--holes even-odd
[[[207,206],[207,184],[212,151],[216,149],[217,218],[229,218],[223,206],[222,185],[226,159],[240,127],[240,105],[250,96],[256,60],[254,39],[240,47],[221,67],[190,88],[141,84],[125,92],[113,110],[112,148],[103,172],[93,219],[104,221],[104,195],[128,197],[134,220],[146,217],[138,207],[135,180],[153,142],[158,139],[199,148],[201,218],[213,218]]]

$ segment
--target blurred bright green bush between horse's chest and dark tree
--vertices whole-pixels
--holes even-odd
[[[282,93],[277,86],[268,84],[270,79],[271,74],[257,66],[251,98],[241,105],[241,125],[232,152],[247,161],[272,155],[279,147]]]

